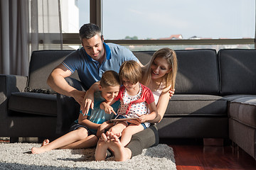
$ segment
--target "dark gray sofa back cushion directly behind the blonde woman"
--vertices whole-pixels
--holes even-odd
[[[155,51],[134,52],[142,64]],[[175,50],[178,60],[175,94],[213,94],[220,91],[215,50]]]

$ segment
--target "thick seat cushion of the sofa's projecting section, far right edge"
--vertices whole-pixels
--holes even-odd
[[[228,116],[242,124],[256,128],[256,96],[231,101]]]

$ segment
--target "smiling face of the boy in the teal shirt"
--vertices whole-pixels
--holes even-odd
[[[119,92],[120,86],[100,86],[100,91],[102,91],[101,95],[106,101],[112,101]]]

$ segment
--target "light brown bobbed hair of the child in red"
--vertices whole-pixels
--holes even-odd
[[[128,79],[132,84],[142,80],[142,67],[134,60],[125,61],[119,69],[119,79]]]

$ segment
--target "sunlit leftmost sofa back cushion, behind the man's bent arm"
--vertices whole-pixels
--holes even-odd
[[[48,86],[46,82],[50,72],[73,51],[74,50],[33,51],[29,64],[28,88],[50,89],[50,86]],[[78,79],[78,74],[74,73],[71,77]]]

